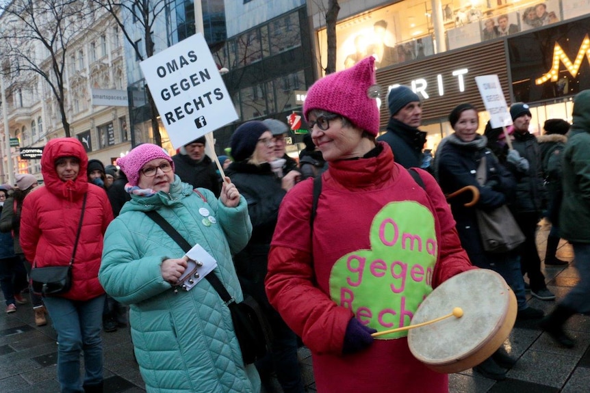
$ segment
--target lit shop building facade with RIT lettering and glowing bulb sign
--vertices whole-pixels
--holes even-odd
[[[326,3],[308,2],[318,59],[326,58]],[[354,64],[357,53],[376,57],[381,131],[389,120],[387,92],[398,84],[411,86],[422,98],[426,148],[435,150],[441,137],[452,133],[446,119],[459,103],[480,108],[483,133],[489,116],[474,79],[479,75],[498,74],[509,105],[531,105],[533,133],[541,133],[548,118],[571,121],[573,96],[590,88],[590,0],[340,0],[339,5],[337,70]],[[318,77],[321,70],[316,68]]]

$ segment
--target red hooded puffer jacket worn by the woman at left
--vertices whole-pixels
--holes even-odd
[[[75,180],[64,182],[55,171],[55,160],[76,157],[80,161]],[[82,201],[87,194],[84,221],[73,264],[73,286],[62,295],[88,300],[104,293],[98,273],[103,252],[103,236],[113,219],[107,194],[88,184],[88,157],[75,138],[49,141],[41,159],[44,187],[27,195],[21,214],[21,247],[36,267],[66,266],[72,258],[80,221]]]

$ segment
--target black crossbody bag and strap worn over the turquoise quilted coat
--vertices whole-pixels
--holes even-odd
[[[157,223],[170,236],[184,252],[188,252],[192,247],[179,232],[155,211],[145,212],[155,223]],[[225,286],[223,286],[219,277],[213,272],[205,275],[209,284],[217,291],[221,299],[225,302],[231,313],[231,321],[235,337],[238,338],[240,349],[242,350],[242,359],[244,364],[251,364],[261,359],[270,351],[270,342],[272,334],[270,325],[266,316],[261,310],[260,305],[250,295],[244,294],[244,300],[239,303],[235,298],[229,295]]]

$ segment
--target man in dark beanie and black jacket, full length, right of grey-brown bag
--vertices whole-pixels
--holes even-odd
[[[541,150],[535,135],[528,131],[530,109],[524,103],[515,103],[510,107],[514,126],[514,150],[528,161],[528,168],[517,175],[516,200],[511,205],[514,218],[526,240],[520,245],[520,264],[522,273],[528,275],[530,294],[537,299],[553,300],[555,295],[548,290],[545,276],[541,273],[541,259],[537,252],[537,223],[543,212],[543,170],[541,169]]]

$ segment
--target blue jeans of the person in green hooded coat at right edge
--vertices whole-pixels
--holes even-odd
[[[565,295],[561,306],[565,306],[579,313],[590,312],[590,244],[572,243],[574,246],[574,260],[580,281]]]

